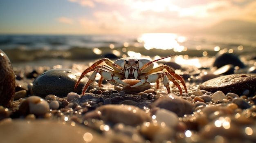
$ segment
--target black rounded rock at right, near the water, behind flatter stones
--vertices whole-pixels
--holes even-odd
[[[225,66],[227,64],[232,64],[234,66],[239,66],[240,68],[244,68],[245,65],[243,62],[240,61],[240,59],[234,55],[229,53],[224,53],[216,56],[216,60],[213,63],[213,66],[217,66],[217,68],[220,68],[222,66]]]

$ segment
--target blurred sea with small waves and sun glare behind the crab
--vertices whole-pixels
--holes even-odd
[[[104,57],[214,56],[225,50],[256,53],[256,35],[247,33],[143,33],[135,35],[0,35],[0,49],[15,65],[72,64]]]

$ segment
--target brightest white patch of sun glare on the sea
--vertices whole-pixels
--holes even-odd
[[[178,42],[185,42],[186,37],[177,36],[174,33],[144,33],[137,41],[144,42],[144,48],[147,50],[157,48],[163,50],[174,49],[176,52],[181,52],[185,47]]]

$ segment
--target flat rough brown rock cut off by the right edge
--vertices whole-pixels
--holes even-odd
[[[234,74],[225,75],[205,81],[200,86],[201,90],[209,92],[222,91],[237,95],[255,95],[256,94],[256,74]]]

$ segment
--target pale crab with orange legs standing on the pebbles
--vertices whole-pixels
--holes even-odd
[[[167,57],[171,56],[172,55]],[[184,79],[180,75],[177,75],[171,67],[167,65],[162,65],[157,68],[153,68],[153,62],[157,62],[167,57],[162,57],[154,61],[150,61],[149,59],[145,58],[135,57],[125,57],[117,59],[115,62],[112,62],[108,58],[100,59],[94,64],[92,64],[92,66],[83,71],[83,73],[79,77],[79,80],[76,82],[74,90],[76,91],[79,82],[85,76],[85,74],[93,71],[92,75],[88,79],[88,82],[85,84],[83,88],[82,95],[85,95],[85,91],[88,89],[90,84],[95,80],[97,73],[101,75],[101,79],[98,83],[99,86],[101,86],[102,80],[104,78],[110,84],[115,86],[129,86],[130,88],[141,88],[147,86],[150,83],[156,82],[158,88],[159,79],[162,78],[163,84],[166,87],[168,93],[171,93],[169,82],[172,81],[173,84],[175,84],[175,86],[179,88],[180,94],[182,94],[182,88],[176,80],[179,80],[181,82],[181,84],[184,86],[185,92],[187,93]],[[137,79],[139,81],[137,82],[137,84],[131,86],[130,84],[127,84],[124,81],[122,81],[124,79]]]

